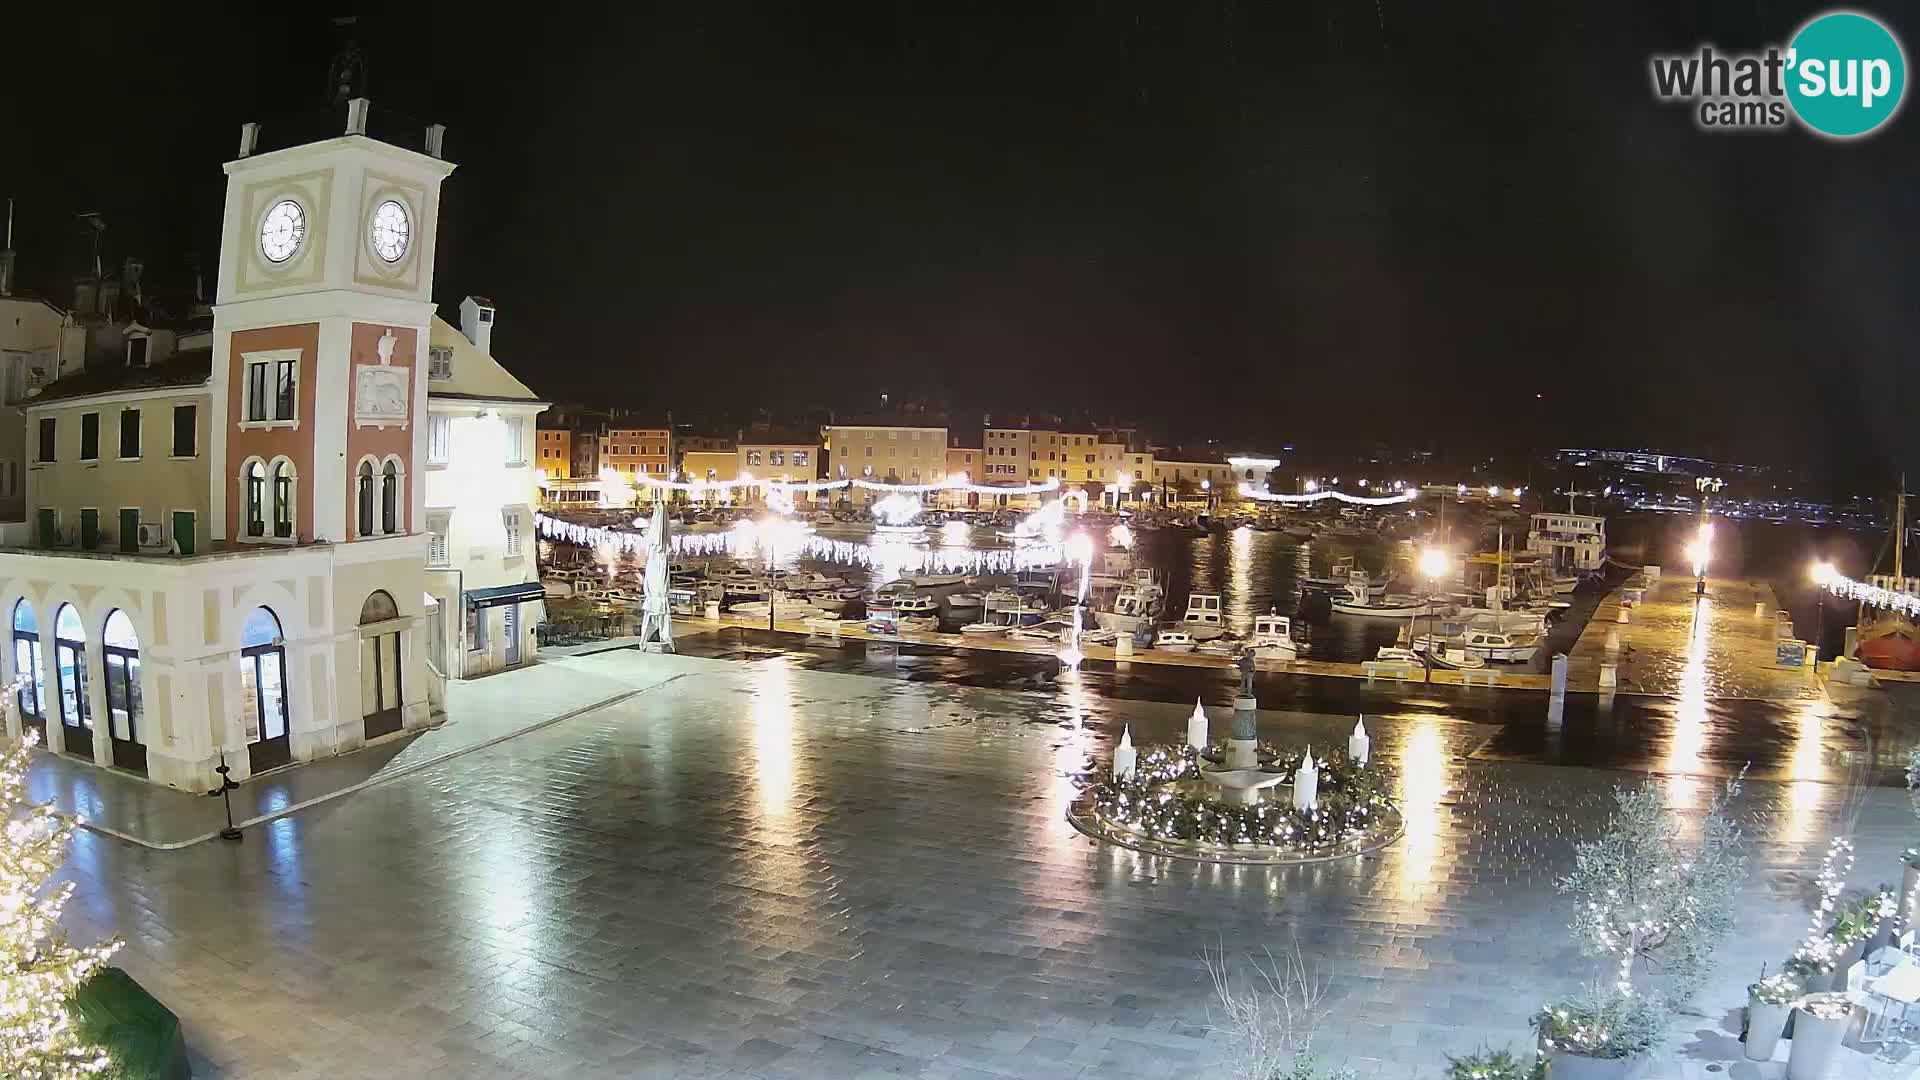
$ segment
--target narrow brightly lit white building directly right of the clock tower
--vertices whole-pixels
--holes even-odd
[[[492,356],[493,306],[432,319],[426,384],[426,663],[472,678],[534,659],[534,425],[547,407]],[[436,701],[436,705],[440,705]]]

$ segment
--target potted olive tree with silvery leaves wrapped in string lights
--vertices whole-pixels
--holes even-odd
[[[1603,982],[1534,1017],[1555,1080],[1636,1076],[1668,1013],[1705,982],[1713,949],[1734,928],[1745,842],[1728,780],[1699,817],[1697,838],[1667,807],[1659,782],[1619,788],[1605,832],[1574,847],[1559,890],[1574,897],[1572,932],[1607,959]]]

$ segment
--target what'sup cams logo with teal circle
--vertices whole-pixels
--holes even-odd
[[[1780,131],[1797,119],[1824,138],[1885,127],[1907,94],[1907,54],[1880,19],[1814,15],[1791,44],[1764,52],[1697,52],[1649,61],[1653,96],[1684,102],[1701,131]]]

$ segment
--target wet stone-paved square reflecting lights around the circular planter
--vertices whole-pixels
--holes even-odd
[[[651,688],[242,846],[83,834],[75,932],[127,936],[196,1076],[248,1078],[1213,1076],[1202,947],[1292,942],[1332,976],[1327,1057],[1413,1076],[1526,1042],[1530,1011],[1596,970],[1551,882],[1630,774],[1476,761],[1482,724],[1369,717],[1407,836],[1231,869],[1106,847],[1062,817],[1121,719],[1171,738],[1190,707],[781,659],[682,657],[664,682],[632,651],[557,663]],[[478,686],[511,696],[515,675]],[[1348,728],[1261,715],[1263,738]],[[1668,780],[1690,805],[1711,786]],[[1799,936],[1845,794],[1747,786],[1740,936],[1680,1053],[1736,1053],[1726,1011]],[[1899,880],[1912,832],[1903,792],[1868,792],[1855,880]]]

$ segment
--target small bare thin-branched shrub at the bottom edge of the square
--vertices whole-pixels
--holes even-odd
[[[1252,974],[1235,978],[1227,945],[1202,949],[1200,959],[1213,978],[1217,1009],[1208,1009],[1208,1026],[1233,1040],[1225,1067],[1236,1080],[1340,1080],[1350,1068],[1321,1070],[1313,1057],[1313,1034],[1327,1017],[1323,1005],[1331,976],[1308,972],[1300,945],[1261,949],[1248,955]]]

